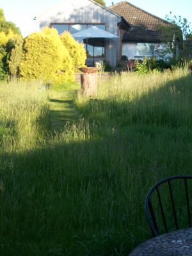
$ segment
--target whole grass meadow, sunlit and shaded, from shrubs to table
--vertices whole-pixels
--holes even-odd
[[[57,101],[74,114],[59,123],[50,93],[67,89],[1,84],[1,256],[122,256],[150,238],[148,189],[191,174],[191,78],[177,68],[100,79],[94,99]]]

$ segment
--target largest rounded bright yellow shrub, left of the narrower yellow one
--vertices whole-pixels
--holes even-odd
[[[20,76],[51,84],[74,80],[72,60],[56,29],[44,28],[24,40]]]

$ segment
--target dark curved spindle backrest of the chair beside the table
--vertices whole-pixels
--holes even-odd
[[[166,179],[160,180],[157,182],[151,189],[148,191],[148,195],[145,199],[145,216],[148,221],[148,225],[150,226],[150,230],[152,231],[153,236],[159,236],[159,226],[157,224],[157,218],[156,218],[156,213],[154,212],[154,208],[152,205],[152,200],[151,196],[152,194],[156,193],[155,196],[157,196],[156,204],[157,207],[159,207],[159,216],[161,216],[161,220],[164,226],[165,233],[168,232],[168,223],[166,220],[166,214],[164,211],[164,205],[162,202],[161,198],[161,191],[159,187],[161,187],[162,184],[167,183],[168,186],[168,195],[167,199],[170,200],[170,205],[172,208],[172,214],[173,214],[173,220],[174,220],[174,225],[176,229],[179,229],[178,225],[178,216],[177,216],[177,209],[179,207],[175,205],[175,200],[174,200],[174,195],[173,195],[173,189],[172,189],[172,180],[180,180],[183,183],[183,186],[181,188],[184,188],[184,204],[186,204],[186,212],[188,214],[188,224],[189,227],[191,227],[191,214],[190,214],[190,204],[189,204],[189,189],[188,189],[188,179],[192,179],[192,175],[178,175],[178,176],[172,176],[168,177]],[[179,188],[180,189],[180,188]],[[179,194],[180,191],[177,191]],[[169,198],[168,198],[169,196]]]

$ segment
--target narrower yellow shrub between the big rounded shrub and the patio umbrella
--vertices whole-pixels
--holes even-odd
[[[70,57],[72,58],[74,70],[76,70],[77,66],[84,67],[86,52],[83,44],[79,44],[68,31],[61,34],[60,38],[61,42],[68,49]]]

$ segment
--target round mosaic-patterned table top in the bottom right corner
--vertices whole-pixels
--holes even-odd
[[[136,247],[129,256],[191,256],[192,228],[156,236]]]

